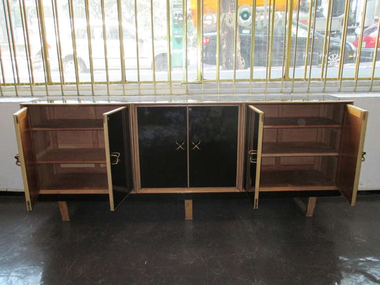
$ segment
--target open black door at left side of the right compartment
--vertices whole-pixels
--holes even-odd
[[[245,125],[245,177],[246,191],[255,190],[253,208],[259,206],[261,149],[263,144],[264,112],[248,105]]]

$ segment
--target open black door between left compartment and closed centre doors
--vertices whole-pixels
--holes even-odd
[[[103,114],[109,202],[114,211],[133,189],[130,107]]]

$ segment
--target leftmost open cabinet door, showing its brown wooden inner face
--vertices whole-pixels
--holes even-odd
[[[33,139],[29,123],[28,108],[22,108],[13,114],[13,121],[16,130],[22,181],[24,183],[26,208],[28,211],[31,211],[40,189],[38,186],[38,173],[33,152]]]

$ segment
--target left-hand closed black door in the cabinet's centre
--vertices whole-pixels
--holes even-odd
[[[138,107],[141,188],[188,187],[183,106]]]

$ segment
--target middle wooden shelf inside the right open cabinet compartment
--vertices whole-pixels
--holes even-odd
[[[323,142],[264,142],[262,157],[273,156],[338,156],[332,146]]]

